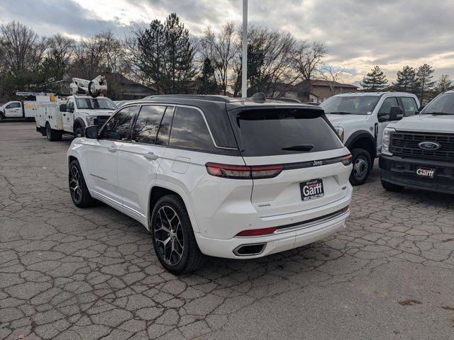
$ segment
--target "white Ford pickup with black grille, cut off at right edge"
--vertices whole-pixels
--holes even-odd
[[[409,187],[453,194],[454,91],[434,98],[419,115],[389,124],[379,166],[387,191]]]

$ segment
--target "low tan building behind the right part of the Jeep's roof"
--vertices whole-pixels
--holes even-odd
[[[358,86],[351,84],[342,84],[337,81],[313,80],[301,81],[298,84],[279,84],[273,94],[275,97],[295,98],[303,103],[316,102],[320,103],[326,98],[336,94],[346,94],[348,92],[358,91]]]

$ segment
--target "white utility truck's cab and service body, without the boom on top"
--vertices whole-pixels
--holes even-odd
[[[57,99],[48,105],[40,106],[35,115],[36,131],[48,140],[61,140],[62,135],[70,134],[84,137],[88,126],[101,127],[116,111],[116,105],[106,97],[74,95]]]

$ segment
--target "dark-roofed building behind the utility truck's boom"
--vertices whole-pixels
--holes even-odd
[[[114,101],[142,99],[145,96],[157,94],[155,89],[128,79],[123,74],[106,73],[104,76],[107,80],[106,95]],[[62,80],[55,81],[55,91],[58,94],[69,95],[71,82],[72,78],[65,75]]]

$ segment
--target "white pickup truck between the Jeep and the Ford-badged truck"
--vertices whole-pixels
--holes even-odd
[[[384,128],[419,112],[418,98],[400,92],[338,94],[320,106],[352,153],[350,183],[353,186],[367,181],[374,160],[382,149]]]

